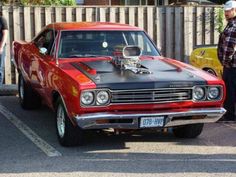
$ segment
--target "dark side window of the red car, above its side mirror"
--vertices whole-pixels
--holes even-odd
[[[55,31],[46,30],[34,40],[34,43],[38,48],[42,48],[42,47],[46,48],[47,54],[50,54],[55,37],[56,37]]]

